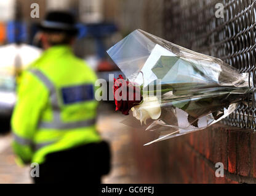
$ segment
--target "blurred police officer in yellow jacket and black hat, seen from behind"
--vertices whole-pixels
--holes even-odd
[[[34,183],[100,183],[110,152],[95,127],[97,77],[71,50],[74,17],[49,12],[41,31],[46,51],[23,72],[12,116],[17,160],[39,164]]]

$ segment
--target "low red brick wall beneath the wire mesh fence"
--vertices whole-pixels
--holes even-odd
[[[132,131],[140,183],[256,183],[256,133],[215,124],[143,146],[154,134]],[[224,177],[215,177],[222,162]]]

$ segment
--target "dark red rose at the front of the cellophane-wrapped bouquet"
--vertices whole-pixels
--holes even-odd
[[[124,115],[129,115],[130,108],[142,102],[140,87],[134,86],[129,81],[124,80],[122,75],[119,75],[118,79],[114,78],[113,89],[114,89],[114,103],[116,104],[116,111],[118,110],[122,111]],[[119,97],[116,97],[115,95],[116,91],[119,91]],[[139,100],[136,100],[136,97],[137,99],[139,98]]]

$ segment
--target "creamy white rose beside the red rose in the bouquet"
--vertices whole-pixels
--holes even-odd
[[[132,114],[135,118],[140,120],[140,123],[146,124],[146,119],[158,119],[161,115],[161,105],[158,97],[145,97],[140,105],[132,108]]]

